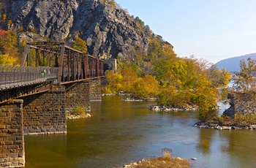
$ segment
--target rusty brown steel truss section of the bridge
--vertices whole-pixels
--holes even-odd
[[[58,67],[59,85],[104,76],[104,61],[64,42],[28,42],[20,65]]]

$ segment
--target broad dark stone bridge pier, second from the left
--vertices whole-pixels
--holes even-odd
[[[23,101],[24,134],[67,133],[64,86],[53,85],[50,91]]]

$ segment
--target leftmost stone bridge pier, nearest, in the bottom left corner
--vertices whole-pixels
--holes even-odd
[[[0,167],[24,167],[23,100],[0,107]]]

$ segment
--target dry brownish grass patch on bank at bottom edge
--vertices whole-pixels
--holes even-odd
[[[190,163],[186,159],[173,158],[172,150],[165,148],[162,150],[162,156],[159,158],[148,159],[139,161],[138,164],[132,164],[132,168],[149,168],[149,167],[158,167],[158,168],[189,168]]]

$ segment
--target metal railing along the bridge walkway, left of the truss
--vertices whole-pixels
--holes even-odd
[[[0,90],[56,80],[58,68],[0,65]]]

